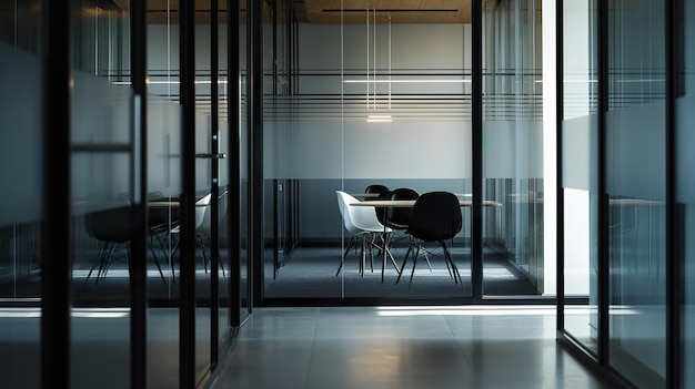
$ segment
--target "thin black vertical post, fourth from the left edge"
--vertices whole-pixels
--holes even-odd
[[[210,1],[210,104],[211,104],[211,140],[210,160],[212,173],[212,203],[210,204],[210,361],[214,366],[218,362],[218,339],[220,334],[220,239],[219,239],[219,176],[220,160],[215,156],[220,154],[220,48],[219,48],[219,6],[218,0]],[[226,199],[226,198],[225,198]]]

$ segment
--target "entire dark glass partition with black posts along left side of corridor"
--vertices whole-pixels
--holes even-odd
[[[179,6],[149,1],[132,4],[132,10],[129,1],[84,0],[56,4],[49,12],[48,2],[0,1],[0,76],[6,86],[0,92],[1,175],[8,183],[0,212],[0,351],[8,357],[0,368],[3,388],[38,388],[42,378],[51,378],[42,377],[50,369],[64,371],[69,387],[75,388],[94,382],[171,388],[185,381],[182,371],[201,383],[219,358],[218,346],[229,340],[232,321],[239,325],[228,309],[239,307],[229,281],[229,192],[236,187],[230,180],[238,180],[229,168],[238,162],[228,162],[230,19],[223,1],[201,2],[189,13],[198,44],[185,50],[195,47],[198,52],[189,61],[194,66],[189,80],[195,86],[188,101],[197,105],[194,125],[182,129],[185,61]],[[59,10],[64,11],[64,24],[46,23]],[[43,31],[50,28],[56,41]],[[58,38],[61,33],[67,41]],[[50,68],[60,68],[60,60],[70,64],[64,73],[51,73],[56,79],[46,76],[42,61],[48,53],[57,55],[49,57],[54,61]],[[59,96],[64,104],[47,91],[56,84],[70,86]],[[140,84],[147,86],[139,90]],[[51,111],[60,110],[64,122],[47,120],[51,111],[43,105],[44,95],[53,98]],[[182,255],[180,229],[187,132],[194,133],[198,156],[195,166],[189,166],[197,178],[195,198],[201,205],[210,198],[208,206],[195,207],[202,217],[191,256]],[[62,152],[64,158],[44,161]],[[59,173],[64,167],[64,176],[49,176],[51,165]],[[44,187],[48,182],[56,186]],[[64,194],[69,204],[60,202]],[[46,215],[57,214],[47,206],[66,211],[69,226],[44,231]],[[61,221],[52,219],[53,225]],[[47,249],[52,247],[47,242],[63,236],[64,249]],[[54,257],[44,258],[46,253]],[[54,268],[56,263],[66,268]],[[198,309],[191,311],[188,323],[193,325],[188,328],[181,325],[187,297],[182,265],[194,267]],[[63,281],[57,294],[54,286]],[[47,285],[49,294],[69,300],[62,307],[64,326],[47,321],[58,315],[47,318],[46,313],[61,313],[42,295]],[[66,339],[64,347],[48,349],[47,341],[58,338]],[[190,354],[184,351],[189,339]],[[42,354],[67,358],[52,358],[56,365],[42,369]]]

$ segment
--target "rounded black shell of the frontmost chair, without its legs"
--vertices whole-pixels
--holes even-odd
[[[462,226],[459,197],[450,192],[427,192],[415,201],[407,233],[424,242],[440,242],[453,238]]]

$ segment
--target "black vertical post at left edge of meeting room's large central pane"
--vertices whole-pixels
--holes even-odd
[[[253,307],[263,300],[263,2],[246,3],[249,12],[249,98],[251,112],[251,193],[249,237],[249,268],[251,269],[250,304]]]

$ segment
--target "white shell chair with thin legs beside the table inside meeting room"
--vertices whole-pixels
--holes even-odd
[[[362,243],[362,248],[360,252],[360,255],[361,255],[360,272],[362,273],[362,276],[364,276],[364,265],[366,262],[367,250],[370,252],[370,259],[372,262],[372,269],[373,269],[373,262],[374,262],[373,248],[374,247],[385,249],[386,255],[391,257],[391,260],[393,262],[395,268],[397,269],[399,267],[395,263],[395,259],[393,259],[393,256],[391,256],[391,253],[387,250],[383,242],[384,233],[386,234],[390,233],[391,228],[384,227],[384,225],[379,222],[379,219],[376,218],[376,212],[374,207],[352,206],[350,204],[359,203],[360,201],[343,191],[335,191],[335,193],[338,194],[338,206],[340,208],[341,215],[343,216],[343,224],[345,226],[345,229],[348,229],[348,232],[352,234],[352,236],[350,237],[350,242],[348,243],[348,246],[345,247],[345,253],[343,254],[342,260],[340,263],[340,266],[338,267],[338,272],[335,273],[335,276],[340,274],[340,270],[342,269],[343,264],[345,263],[345,257],[348,256],[348,253],[353,247],[353,245],[355,245],[357,242]],[[379,237],[379,239],[381,240],[380,242],[381,246],[375,242],[376,237]],[[385,257],[384,257],[384,260],[385,260]],[[385,264],[382,264],[382,281],[384,278],[384,268],[385,268]]]

